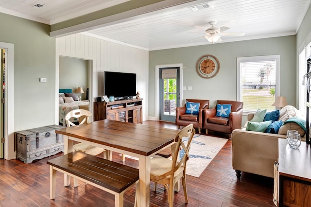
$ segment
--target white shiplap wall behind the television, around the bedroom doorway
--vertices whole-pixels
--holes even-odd
[[[148,117],[148,51],[121,45],[82,34],[56,38],[56,77],[59,56],[90,60],[92,63],[89,83],[90,111],[96,97],[104,95],[104,71],[131,72],[137,74],[137,90],[143,98],[143,120]],[[56,78],[58,91],[58,78]],[[118,87],[118,80],[116,80]],[[56,94],[58,97],[58,94]],[[57,99],[58,100],[58,99]],[[58,103],[57,103],[58,104]],[[58,111],[56,120],[58,120]]]

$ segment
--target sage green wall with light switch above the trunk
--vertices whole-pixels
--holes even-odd
[[[55,38],[49,36],[50,26],[2,13],[0,19],[0,42],[14,44],[15,131],[54,124]]]

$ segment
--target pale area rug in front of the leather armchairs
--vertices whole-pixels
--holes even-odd
[[[227,141],[227,138],[194,135],[190,146],[190,159],[187,162],[186,174],[199,177]],[[186,138],[184,142],[187,143]],[[180,157],[182,156],[183,152],[181,151]],[[137,157],[129,155],[125,155],[125,157],[138,160]]]

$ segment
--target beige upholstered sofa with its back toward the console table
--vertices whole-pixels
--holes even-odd
[[[248,114],[247,120],[250,121],[254,114]],[[301,115],[293,106],[285,106],[280,110],[279,120],[286,121],[293,116]],[[247,122],[245,127],[246,124]],[[286,138],[288,129],[297,130],[302,136],[302,140],[305,140],[303,138],[305,130],[294,122],[282,125],[278,134],[246,131],[245,128],[235,129],[231,134],[232,167],[236,171],[237,178],[240,179],[241,172],[274,177],[273,165],[278,158],[278,138]]]

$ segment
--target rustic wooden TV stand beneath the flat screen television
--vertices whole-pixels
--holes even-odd
[[[94,102],[94,121],[104,119],[142,123],[142,99]]]

